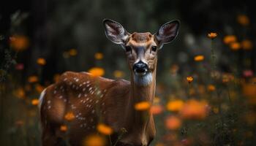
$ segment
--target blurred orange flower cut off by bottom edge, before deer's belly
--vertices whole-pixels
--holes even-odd
[[[99,135],[90,135],[83,141],[83,146],[105,146],[106,140],[104,137]]]

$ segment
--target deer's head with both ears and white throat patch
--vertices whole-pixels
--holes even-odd
[[[173,20],[162,25],[157,33],[134,32],[130,34],[120,23],[103,20],[105,34],[111,42],[121,45],[127,55],[132,73],[131,82],[146,86],[151,84],[157,68],[157,52],[164,44],[172,42],[178,34],[179,21]]]

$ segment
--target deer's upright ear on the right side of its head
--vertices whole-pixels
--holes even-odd
[[[173,20],[165,23],[159,28],[159,31],[155,34],[159,45],[162,46],[169,42],[172,42],[178,34],[179,21]]]

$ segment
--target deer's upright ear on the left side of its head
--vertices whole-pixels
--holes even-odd
[[[103,25],[105,27],[105,34],[108,39],[116,44],[124,44],[129,36],[129,33],[114,20],[105,19],[103,20]]]

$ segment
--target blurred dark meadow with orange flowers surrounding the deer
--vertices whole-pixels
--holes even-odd
[[[129,80],[104,18],[152,34],[181,21],[158,53],[152,145],[256,145],[253,1],[10,0],[0,8],[0,145],[40,145],[37,99],[61,73],[97,67]]]

